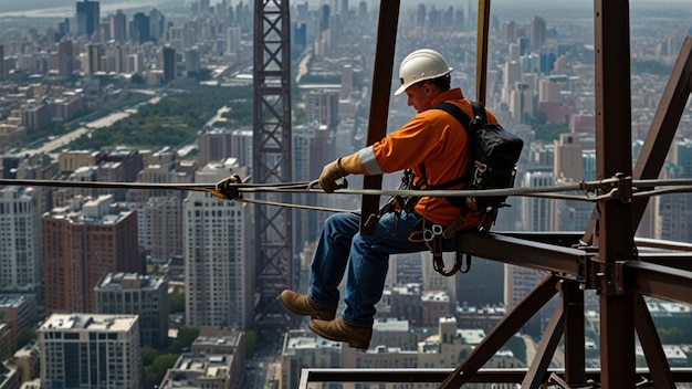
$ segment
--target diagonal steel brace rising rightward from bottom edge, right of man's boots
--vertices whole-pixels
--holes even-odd
[[[470,382],[483,365],[492,358],[516,332],[518,332],[556,293],[559,278],[545,276],[512,312],[473,348],[471,354],[459,365],[440,386],[440,389],[459,388]]]

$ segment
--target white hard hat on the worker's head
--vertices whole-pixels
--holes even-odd
[[[395,95],[401,94],[407,87],[421,82],[441,77],[452,71],[444,57],[434,50],[420,49],[407,55],[399,66],[399,82],[401,86]]]

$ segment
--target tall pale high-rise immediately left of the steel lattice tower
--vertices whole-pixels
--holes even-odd
[[[217,182],[233,174],[247,177],[247,168],[229,158],[197,171],[195,181]],[[202,192],[191,192],[182,207],[186,324],[250,328],[254,290],[254,267],[248,261],[250,210],[242,202]]]

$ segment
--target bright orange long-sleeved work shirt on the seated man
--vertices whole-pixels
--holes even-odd
[[[449,102],[459,106],[469,117],[473,117],[471,103],[460,88],[440,94],[432,106]],[[486,111],[487,123],[497,123]],[[469,169],[469,138],[466,129],[452,115],[441,109],[427,109],[418,113],[406,125],[381,140],[359,150],[360,162],[369,175],[395,172],[411,168],[421,177],[420,164],[426,166],[429,186],[436,186],[463,177]],[[450,189],[463,189],[465,183]],[[416,212],[427,220],[449,225],[460,212],[442,197],[422,197],[416,204]],[[481,218],[471,213],[463,228],[474,228]]]

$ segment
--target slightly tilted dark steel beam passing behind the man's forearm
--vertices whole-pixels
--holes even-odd
[[[389,95],[391,94],[391,74],[397,42],[397,24],[399,23],[399,6],[400,0],[381,0],[379,3],[366,146],[373,145],[387,135],[387,114],[389,113]],[[381,187],[382,175],[365,176],[363,178],[363,189],[381,189]],[[377,214],[378,210],[379,196],[363,195],[363,203],[360,206],[361,234],[373,231],[375,228],[374,220],[368,221],[371,215]]]

